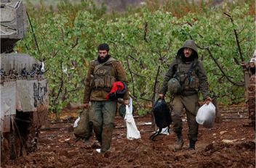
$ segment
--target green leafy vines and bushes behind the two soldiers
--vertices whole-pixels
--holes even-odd
[[[51,111],[60,112],[68,102],[83,101],[89,62],[97,57],[99,43],[109,43],[111,55],[123,62],[129,90],[135,104],[141,107],[145,100],[152,99],[158,67],[161,82],[177,50],[190,38],[201,48],[211,51],[231,80],[243,83],[241,58],[233,30],[239,33],[242,56],[249,62],[255,50],[255,19],[251,4],[232,4],[232,7],[223,4],[218,8],[199,8],[197,12],[195,7],[199,6],[196,4],[183,4],[188,11],[183,10],[180,14],[181,6],[175,3],[166,4],[168,8],[153,6],[151,2],[124,14],[106,14],[104,5],[99,8],[92,1],[81,1],[81,4],[63,1],[57,8],[41,3],[37,9],[28,2],[26,6],[40,52],[36,49],[31,29],[16,49],[44,61]],[[231,15],[234,24],[223,12]],[[244,101],[244,88],[228,82],[207,49],[199,49],[199,56],[207,70],[212,92],[223,104]],[[143,112],[140,108],[139,113]]]

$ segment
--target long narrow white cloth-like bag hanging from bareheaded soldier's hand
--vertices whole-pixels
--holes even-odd
[[[124,120],[127,123],[127,139],[139,139],[140,131],[137,130],[137,127],[135,125],[135,119],[132,116],[132,98],[129,98],[129,106],[126,105]]]

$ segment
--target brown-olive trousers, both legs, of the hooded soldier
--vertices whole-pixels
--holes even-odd
[[[196,114],[199,109],[199,96],[175,96],[172,101],[172,121],[175,133],[182,133],[183,130],[183,109],[188,119],[188,138],[196,141],[198,138],[199,125],[196,122]]]

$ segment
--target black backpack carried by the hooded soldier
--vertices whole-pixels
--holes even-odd
[[[172,123],[171,112],[164,99],[159,98],[156,101],[153,106],[153,115],[155,117],[156,126],[159,127],[159,131],[151,135],[151,140],[154,140],[164,127],[168,127],[169,133],[169,125]]]

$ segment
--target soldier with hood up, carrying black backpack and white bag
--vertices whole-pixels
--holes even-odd
[[[164,98],[167,90],[174,96],[172,121],[174,132],[177,135],[175,150],[181,150],[184,144],[181,119],[183,108],[185,108],[188,119],[189,149],[195,149],[199,130],[199,125],[196,122],[196,113],[199,109],[199,91],[201,91],[206,104],[209,104],[212,99],[209,96],[207,72],[199,60],[194,41],[185,41],[183,47],[177,51],[177,56],[170,64],[164,77],[159,97]]]

